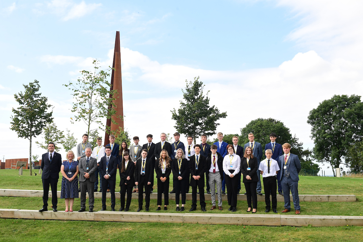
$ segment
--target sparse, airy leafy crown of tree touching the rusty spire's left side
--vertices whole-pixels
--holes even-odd
[[[98,63],[99,61],[93,60],[93,72],[82,70],[80,71],[82,77],[75,83],[64,84],[64,86],[69,87],[69,90],[72,90],[75,99],[71,110],[75,116],[71,118],[71,122],[80,120],[85,122],[88,126],[88,135],[92,131],[90,130],[92,123],[99,125],[98,129],[101,130],[104,130],[102,122],[104,118],[111,118],[111,121],[115,123],[112,117],[116,115],[115,108],[117,106],[112,101],[116,100],[115,96],[118,91],[110,90],[111,83],[106,80],[110,75],[107,71],[111,68],[97,72]]]

